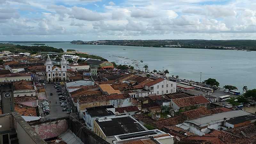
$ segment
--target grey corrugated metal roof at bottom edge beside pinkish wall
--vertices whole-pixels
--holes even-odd
[[[59,138],[61,138],[63,141],[65,141],[67,144],[84,144],[72,131],[68,130],[67,132],[64,132],[59,135]]]

